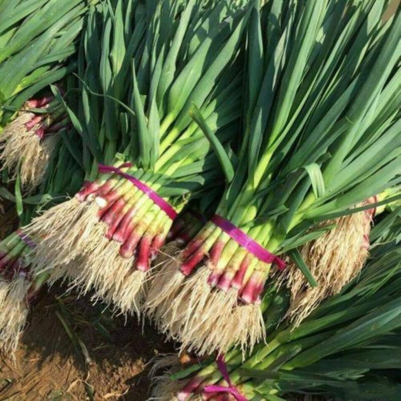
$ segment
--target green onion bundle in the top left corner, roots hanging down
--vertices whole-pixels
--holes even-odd
[[[74,71],[78,35],[97,1],[5,0],[0,11],[0,161],[24,192],[41,184],[68,119],[49,84]],[[45,93],[43,93],[45,92]],[[9,174],[8,174],[9,172]]]

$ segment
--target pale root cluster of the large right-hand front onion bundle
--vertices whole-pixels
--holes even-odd
[[[266,336],[260,305],[238,302],[238,291],[211,288],[206,266],[185,278],[172,257],[154,276],[146,309],[158,329],[181,342],[181,350],[209,354],[241,346],[243,352]]]

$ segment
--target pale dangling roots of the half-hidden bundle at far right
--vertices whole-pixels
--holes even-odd
[[[287,273],[277,278],[279,285],[291,290],[291,305],[287,312],[298,326],[327,297],[338,294],[363,267],[368,257],[370,217],[366,212],[344,216],[336,227],[315,241],[303,246],[301,253],[318,283],[312,288],[302,272],[288,266]]]

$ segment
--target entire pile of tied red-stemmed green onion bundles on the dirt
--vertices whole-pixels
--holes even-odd
[[[389,3],[0,1],[2,351],[62,284],[177,344],[157,399],[399,399]]]

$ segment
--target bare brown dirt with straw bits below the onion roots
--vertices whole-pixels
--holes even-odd
[[[45,293],[30,315],[15,362],[0,362],[0,400],[132,400],[148,397],[149,366],[173,352],[160,335],[134,319],[112,317],[87,298]],[[60,316],[84,344],[74,348]],[[78,337],[77,337],[78,336]],[[85,361],[86,359],[86,361]]]

